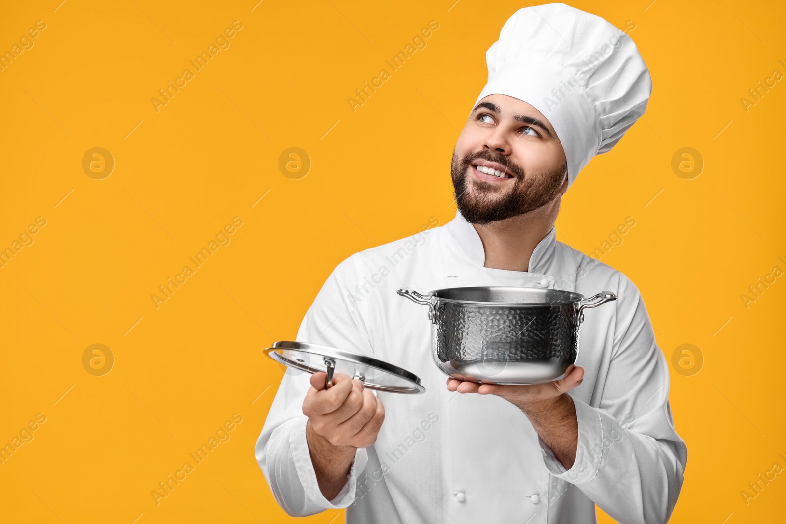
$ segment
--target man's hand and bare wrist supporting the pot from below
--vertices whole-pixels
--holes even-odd
[[[567,392],[582,383],[583,378],[584,369],[571,364],[565,370],[565,376],[553,382],[503,386],[448,377],[447,390],[497,395],[512,402],[527,415],[535,431],[562,465],[570,469],[576,459],[578,421],[573,399]]]

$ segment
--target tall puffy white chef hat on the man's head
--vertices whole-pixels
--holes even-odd
[[[506,94],[538,109],[567,157],[568,185],[643,115],[652,79],[633,40],[565,4],[519,9],[486,53],[488,81],[472,106]]]

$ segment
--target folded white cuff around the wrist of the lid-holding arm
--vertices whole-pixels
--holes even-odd
[[[317,473],[314,471],[314,464],[311,462],[311,453],[308,450],[308,442],[306,440],[307,422],[308,419],[304,416],[302,422],[296,424],[292,428],[292,433],[289,434],[289,448],[292,450],[292,461],[295,464],[300,484],[303,486],[306,496],[320,508],[347,508],[354,500],[354,489],[358,483],[358,475],[365,468],[365,464],[369,460],[369,454],[365,448],[355,450],[354,460],[352,460],[349,475],[347,475],[347,483],[333,500],[327,500],[319,489]]]

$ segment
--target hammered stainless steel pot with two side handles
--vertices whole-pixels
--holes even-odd
[[[428,306],[432,355],[446,375],[482,383],[531,384],[564,375],[578,356],[584,310],[615,300],[612,291],[445,288],[399,295]]]

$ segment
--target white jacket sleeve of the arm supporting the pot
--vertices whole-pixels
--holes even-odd
[[[622,277],[608,376],[600,401],[573,398],[575,462],[567,470],[538,437],[546,467],[623,524],[668,522],[688,451],[674,429],[669,370],[641,294]]]

